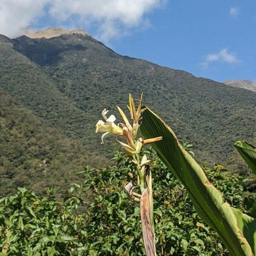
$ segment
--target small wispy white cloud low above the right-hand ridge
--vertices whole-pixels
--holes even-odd
[[[204,61],[201,62],[201,66],[204,68],[209,67],[209,63],[211,62],[226,62],[230,64],[239,63],[239,59],[236,54],[233,52],[228,52],[228,48],[221,49],[217,53],[208,54],[204,57]]]

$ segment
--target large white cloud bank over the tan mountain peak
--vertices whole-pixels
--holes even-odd
[[[23,35],[41,17],[51,26],[97,27],[103,41],[144,26],[145,14],[166,0],[1,0],[0,34]],[[68,25],[67,25],[68,24]],[[48,26],[41,24],[42,27]]]

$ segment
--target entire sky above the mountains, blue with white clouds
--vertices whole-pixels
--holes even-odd
[[[0,34],[82,28],[122,55],[256,81],[255,0],[3,0]]]

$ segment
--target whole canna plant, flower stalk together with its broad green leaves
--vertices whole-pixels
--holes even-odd
[[[181,144],[172,131],[159,116],[147,107],[142,110],[142,97],[136,111],[132,96],[129,96],[130,116],[132,125],[124,112],[119,108],[124,123],[115,125],[116,118],[106,117],[106,122],[99,121],[96,132],[102,131],[103,138],[107,134],[115,134],[116,140],[125,149],[132,163],[137,166],[137,186],[140,193],[134,192],[132,182],[126,183],[125,189],[134,200],[140,201],[140,215],[143,230],[143,242],[147,256],[155,256],[152,179],[147,156],[140,156],[143,144],[151,143],[158,157],[170,172],[183,183],[184,188],[201,219],[209,224],[229,250],[230,256],[256,256],[256,204],[254,199],[247,198],[248,214],[244,214],[224,202],[221,193],[210,183],[204,171],[193,159],[192,145]],[[137,139],[140,128],[143,139]],[[120,141],[124,138],[125,142]],[[256,148],[244,142],[234,144],[241,156],[256,172]]]

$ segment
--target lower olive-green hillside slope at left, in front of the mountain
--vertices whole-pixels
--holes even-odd
[[[99,159],[79,141],[48,127],[4,92],[0,92],[0,152],[1,195],[25,185],[36,192],[46,186],[64,192],[87,164],[107,164],[104,157]]]

